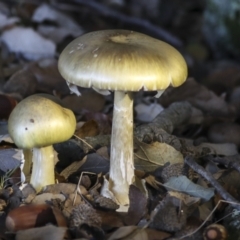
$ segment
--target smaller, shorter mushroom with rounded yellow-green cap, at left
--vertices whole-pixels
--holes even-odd
[[[55,183],[52,144],[68,140],[76,127],[72,111],[53,102],[51,96],[46,97],[36,94],[25,98],[8,120],[8,132],[14,143],[24,150],[32,149],[30,183],[37,192]]]

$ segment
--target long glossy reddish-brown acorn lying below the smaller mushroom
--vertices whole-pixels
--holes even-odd
[[[42,227],[49,223],[67,227],[67,221],[61,211],[48,204],[18,207],[10,211],[6,217],[6,228],[11,232]]]

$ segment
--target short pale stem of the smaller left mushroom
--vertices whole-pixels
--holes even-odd
[[[36,192],[55,183],[53,146],[33,148],[33,169],[30,183]]]

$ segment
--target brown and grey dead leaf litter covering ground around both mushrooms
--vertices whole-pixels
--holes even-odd
[[[4,227],[10,211],[33,203],[39,207],[48,204],[49,215],[34,228],[12,233],[14,239],[31,239],[32,231],[41,239],[49,239],[49,234],[54,234],[51,239],[202,239],[207,226],[216,221],[234,239],[239,237],[235,224],[240,209],[236,180],[240,174],[239,58],[223,51],[219,59],[208,45],[209,39],[194,38],[194,28],[200,25],[189,20],[186,24],[184,19],[192,17],[189,9],[193,6],[204,12],[201,1],[186,1],[182,6],[185,17],[178,21],[174,21],[178,13],[172,8],[178,3],[169,1],[157,8],[157,2],[149,1],[147,7],[144,1],[137,6],[134,1],[111,0],[61,1],[58,6],[1,3],[1,239],[10,239]],[[159,14],[165,7],[172,9],[172,20]],[[157,13],[149,14],[149,9]],[[161,31],[159,18],[171,34]],[[110,21],[113,19],[118,25]],[[202,22],[202,15],[193,22],[197,20]],[[123,213],[101,195],[110,166],[112,95],[85,89],[79,89],[81,97],[70,94],[58,73],[57,58],[68,42],[84,32],[118,27],[138,31],[139,26],[175,47],[182,45],[190,73],[185,84],[170,87],[158,100],[151,92],[134,95],[136,181],[129,190],[129,210]],[[183,26],[185,36],[179,30]],[[191,42],[193,38],[196,43]],[[203,55],[199,55],[199,47]],[[34,93],[55,96],[75,113],[78,122],[75,136],[54,146],[57,183],[39,194],[28,183],[29,176],[22,177],[21,150],[6,127],[14,102]],[[236,214],[229,215],[234,211]],[[67,226],[49,225],[51,214],[64,217]]]

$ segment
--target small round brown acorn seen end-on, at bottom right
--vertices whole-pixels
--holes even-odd
[[[204,240],[225,240],[227,239],[227,230],[223,225],[211,224],[203,232]]]

